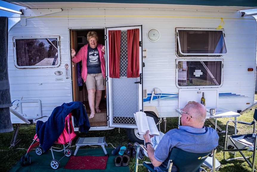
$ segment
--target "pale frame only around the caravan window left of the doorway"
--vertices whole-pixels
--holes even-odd
[[[16,54],[16,40],[18,39],[57,39],[58,64],[42,66],[18,66]],[[14,36],[13,37],[14,65],[18,69],[57,68],[61,65],[60,36]]]

